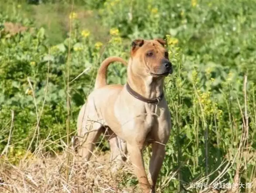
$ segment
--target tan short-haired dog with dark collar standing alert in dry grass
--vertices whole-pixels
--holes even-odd
[[[164,77],[173,70],[164,45],[163,39],[132,42],[125,86],[107,85],[106,71],[113,61],[126,62],[119,57],[104,60],[98,70],[95,90],[80,110],[77,122],[79,155],[89,160],[100,134],[106,128],[109,133],[114,132],[110,137],[112,154],[120,158],[118,145],[122,145],[124,153],[127,148],[144,193],[155,192],[171,130],[163,84]],[[118,139],[121,143],[116,143]],[[148,143],[152,143],[149,180],[142,157],[142,149]]]

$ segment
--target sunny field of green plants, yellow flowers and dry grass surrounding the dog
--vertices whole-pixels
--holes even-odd
[[[254,0],[0,0],[0,192],[139,192],[129,161],[109,172],[102,137],[87,174],[71,141],[100,63],[128,60],[137,38],[166,39],[174,66],[157,193],[256,192],[255,10]],[[107,76],[125,84],[126,67]]]

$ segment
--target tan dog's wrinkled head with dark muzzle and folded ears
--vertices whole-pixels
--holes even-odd
[[[166,77],[173,73],[163,39],[134,40],[131,43],[132,70],[141,76]]]

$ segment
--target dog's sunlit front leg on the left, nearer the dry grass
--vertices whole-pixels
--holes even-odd
[[[138,144],[127,143],[127,150],[130,154],[130,160],[134,166],[135,175],[138,178],[138,182],[142,187],[143,193],[150,193],[151,188],[145,173],[144,161],[142,157],[142,146]]]

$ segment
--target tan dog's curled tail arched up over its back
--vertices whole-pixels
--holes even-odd
[[[103,87],[107,85],[107,67],[110,63],[112,62],[121,62],[125,66],[127,66],[127,63],[125,62],[124,59],[121,57],[108,57],[106,58],[100,65],[100,68],[97,73],[94,89]]]

